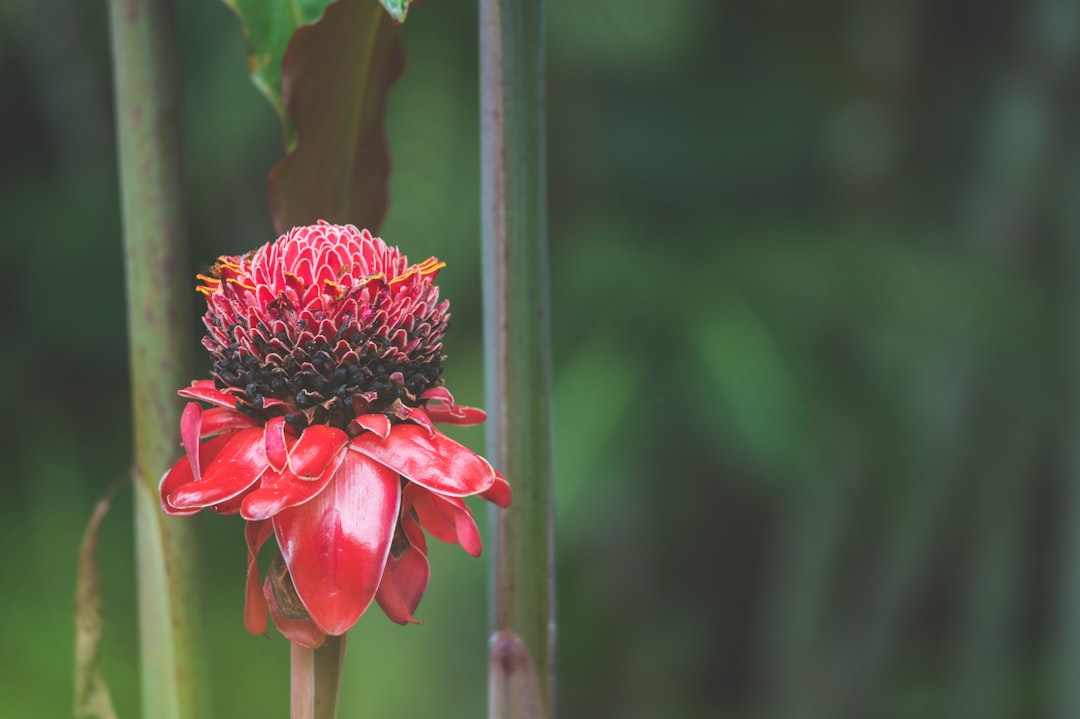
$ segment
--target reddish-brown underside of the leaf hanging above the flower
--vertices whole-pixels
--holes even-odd
[[[282,65],[295,144],[270,172],[279,232],[320,219],[377,229],[387,208],[387,93],[404,68],[397,27],[378,0],[337,0],[296,30]]]

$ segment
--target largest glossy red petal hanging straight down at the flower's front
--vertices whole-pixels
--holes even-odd
[[[345,455],[329,487],[273,518],[296,593],[332,635],[348,632],[372,603],[401,504],[393,471],[356,452]]]

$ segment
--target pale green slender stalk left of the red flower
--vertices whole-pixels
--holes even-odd
[[[190,524],[160,510],[191,377],[191,289],[171,0],[110,0],[135,426],[143,716],[208,716],[199,671]]]

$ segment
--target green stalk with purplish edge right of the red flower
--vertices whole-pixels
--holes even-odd
[[[480,0],[488,452],[514,487],[492,510],[489,716],[554,716],[555,602],[542,0]]]

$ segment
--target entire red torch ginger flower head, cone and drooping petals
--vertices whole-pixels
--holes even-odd
[[[251,632],[269,614],[318,647],[373,599],[413,622],[430,573],[423,530],[478,555],[462,498],[510,503],[507,480],[435,428],[485,417],[440,384],[442,267],[320,222],[200,275],[213,379],[179,392],[194,401],[180,419],[186,456],[162,477],[161,502],[171,515],[247,520]],[[264,580],[271,535],[280,558]]]

